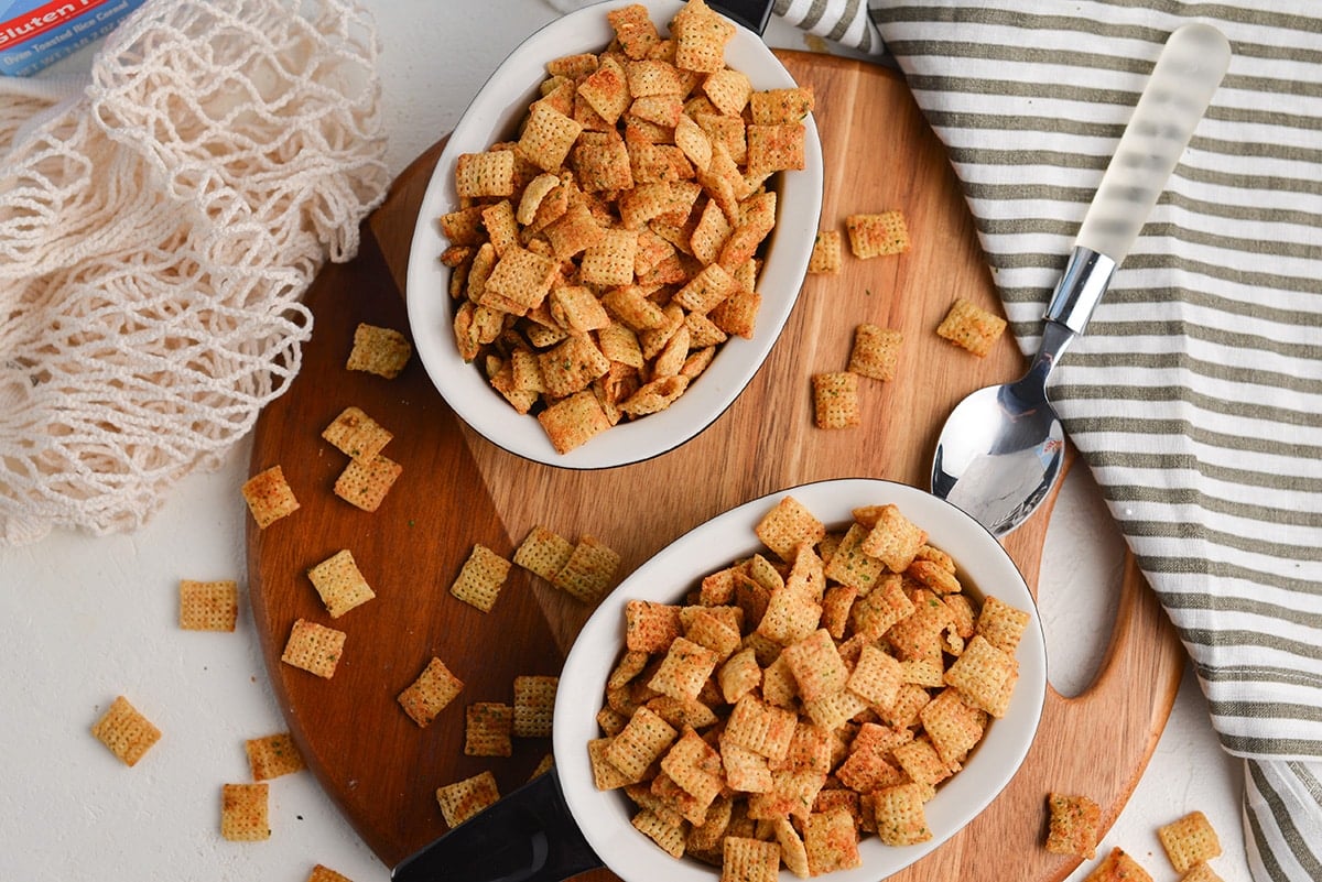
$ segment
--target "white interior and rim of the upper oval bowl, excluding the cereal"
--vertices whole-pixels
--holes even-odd
[[[605,469],[641,462],[672,450],[711,425],[752,380],[780,335],[798,297],[812,255],[822,202],[822,153],[812,115],[805,120],[805,168],[781,173],[776,197],[776,228],[765,244],[752,339],[726,341],[715,359],[665,411],[621,423],[567,453],[551,446],[534,416],[521,415],[464,362],[453,337],[453,304],[447,293],[449,269],[440,263],[448,246],[436,219],[459,206],[455,164],[460,153],[476,153],[510,136],[537,87],[546,62],[580,51],[602,51],[613,32],[611,9],[637,0],[612,0],[572,12],[546,25],[521,44],[492,74],[455,127],[427,185],[414,228],[406,301],[414,347],[432,384],[455,413],[492,444],[547,465]],[[682,8],[677,0],[644,4],[660,29]],[[758,34],[736,25],[726,46],[726,62],[747,74],[754,88],[792,88],[795,79]]]

